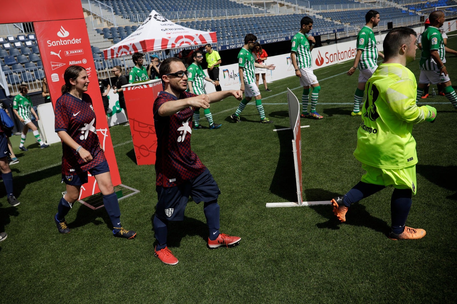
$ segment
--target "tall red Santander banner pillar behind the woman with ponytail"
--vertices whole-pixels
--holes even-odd
[[[65,84],[65,69],[70,65],[80,65],[86,69],[90,80],[87,93],[92,98],[96,114],[97,135],[101,147],[105,150],[112,183],[114,186],[120,184],[121,177],[106,122],[100,89],[97,85],[96,68],[84,19],[40,21],[34,22],[34,26],[54,107],[55,101],[62,95],[60,89]],[[100,189],[95,178],[89,175],[88,183],[81,187],[80,199],[98,192]]]

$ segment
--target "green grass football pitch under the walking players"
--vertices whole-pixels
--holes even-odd
[[[457,48],[450,38],[448,47]],[[418,52],[418,57],[420,56]],[[346,193],[364,171],[352,156],[360,117],[350,116],[357,75],[352,62],[316,70],[322,87],[318,112],[324,119],[302,120],[304,200],[329,200]],[[419,77],[419,63],[409,64]],[[457,81],[457,60],[447,58]],[[157,202],[154,166],[137,166],[127,127],[111,135],[122,183],[139,194],[120,201],[124,228],[134,240],[112,236],[104,209],[76,203],[66,219],[68,235],[53,221],[64,191],[60,183],[61,145],[40,150],[30,133],[26,146],[11,141],[20,162],[12,165],[21,204],[10,207],[0,186],[1,303],[446,303],[455,300],[457,111],[445,97],[426,103],[438,110],[434,124],[414,126],[417,195],[407,225],[427,235],[392,241],[390,196],[383,191],[354,204],[340,224],[329,205],[266,208],[268,202],[296,200],[292,134],[286,88],[295,77],[262,92],[262,125],[255,106],[241,123],[228,119],[239,102],[211,105],[218,130],[192,132],[192,148],[210,169],[222,194],[221,231],[241,236],[234,248],[209,250],[202,205],[189,203],[186,219],[170,224],[168,245],[179,259],[168,266],[154,257],[152,217]],[[260,86],[263,89],[263,86]],[[424,100],[421,100],[424,101]],[[203,121],[203,124],[206,122]],[[454,299],[454,300],[452,300]]]

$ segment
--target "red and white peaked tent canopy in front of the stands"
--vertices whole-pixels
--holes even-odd
[[[177,25],[153,10],[136,31],[104,50],[103,54],[105,59],[112,59],[134,52],[156,52],[215,42],[216,32],[197,31]]]

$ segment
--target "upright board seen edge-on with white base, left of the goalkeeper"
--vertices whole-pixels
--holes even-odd
[[[289,104],[290,128],[275,129],[273,131],[293,130],[292,151],[293,163],[295,167],[295,183],[297,184],[297,202],[286,203],[266,203],[266,207],[299,207],[311,205],[330,204],[329,200],[316,202],[303,202],[302,198],[302,135],[301,128],[309,126],[300,126],[300,103],[297,96],[287,88],[287,103]]]

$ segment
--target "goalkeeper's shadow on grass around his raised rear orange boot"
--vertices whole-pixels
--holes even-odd
[[[307,201],[320,201],[324,200],[324,198],[328,198],[329,200],[331,200],[332,198],[340,195],[323,189],[308,189],[305,191],[305,194]],[[319,215],[322,215],[323,217],[328,219],[323,223],[316,224],[318,228],[332,230],[340,229],[339,225],[342,223],[333,214],[332,205],[311,206],[311,209],[319,213]],[[382,232],[386,236],[387,233],[390,231],[390,226],[386,223],[386,221],[372,216],[363,204],[352,204],[347,214],[349,216],[346,217],[346,221],[343,225],[367,227],[372,230]]]

